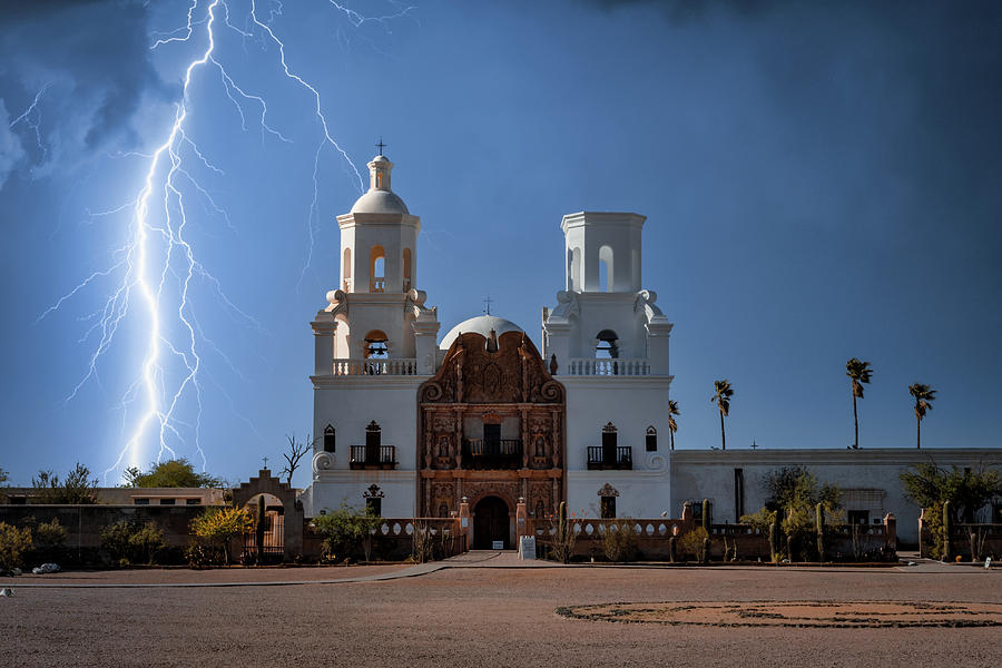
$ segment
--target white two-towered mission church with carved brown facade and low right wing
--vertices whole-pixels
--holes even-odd
[[[849,518],[897,517],[917,542],[918,509],[898,473],[929,461],[1000,465],[1000,449],[678,450],[668,443],[671,323],[645,289],[645,216],[563,217],[567,284],[543,308],[542,351],[484,315],[439,338],[418,288],[421,219],[391,189],[393,163],[369,163],[370,189],[341,227],[341,276],[311,323],[315,363],[313,482],[306,517],[375,505],[383,517],[450,517],[465,499],[473,547],[514,539],[560,501],[589,517],[680,517],[709,499],[714,522],[764,502],[760,478],[808,466],[838,484]]]

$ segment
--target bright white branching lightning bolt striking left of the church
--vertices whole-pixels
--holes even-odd
[[[356,28],[366,22],[379,22],[387,31],[390,21],[407,16],[414,9],[393,2],[397,12],[382,17],[364,17],[333,0],[327,1]],[[204,39],[206,45],[204,49],[199,50],[198,57],[190,60],[184,69],[180,97],[175,105],[174,118],[163,141],[151,153],[127,154],[147,161],[138,194],[124,205],[92,215],[95,217],[112,216],[128,212],[127,240],[111,253],[110,266],[84,278],[42,312],[38,318],[41,321],[60,310],[66,302],[96,283],[121,275],[102,306],[88,318],[94,322],[81,341],[88,341],[95,335],[98,335],[98,341],[89,356],[86,373],[66,397],[66,401],[75,399],[89,381],[99,382],[98,364],[101,357],[111,348],[116,337],[124,335],[120,331],[127,316],[135,314],[141,323],[143,358],[134,381],[119,402],[122,412],[124,444],[119,449],[115,462],[105,471],[106,479],[110,472],[124,464],[144,465],[144,445],[154,438],[157,445],[157,461],[160,461],[165,454],[176,456],[175,446],[186,441],[186,432],[194,434],[195,452],[205,469],[206,455],[200,444],[204,392],[200,379],[205,374],[202,350],[208,348],[218,354],[235,372],[236,367],[216,343],[203,333],[193,311],[189,293],[193,279],[198,278],[205,282],[234,317],[249,322],[262,330],[259,323],[226,296],[220,282],[198,261],[186,232],[189,225],[188,200],[193,197],[207,202],[212,213],[223,216],[229,225],[226,212],[216,205],[208,189],[198,183],[188,167],[188,163],[194,163],[214,174],[223,175],[223,170],[212,164],[187,131],[193,109],[191,81],[197,72],[213,69],[218,72],[223,90],[235,107],[244,130],[248,129],[246,108],[252,107],[255,109],[253,118],[261,128],[262,140],[271,136],[278,141],[291,141],[288,137],[269,124],[268,105],[265,97],[249,91],[227,71],[223,63],[224,59],[217,52],[218,29],[232,30],[243,38],[255,37],[261,39],[264,45],[274,46],[281,72],[312,99],[311,106],[321,132],[317,146],[313,151],[314,196],[307,212],[308,249],[299,282],[310,268],[313,257],[314,222],[320,216],[318,174],[324,150],[333,151],[333,155],[350,168],[354,180],[357,181],[360,193],[364,189],[362,175],[357,167],[333,136],[331,124],[324,115],[320,91],[289,65],[286,43],[273,28],[275,19],[282,16],[282,3],[271,4],[266,18],[262,18],[258,13],[257,0],[249,0],[249,6],[243,6],[247,8],[244,29],[238,28],[232,21],[233,3],[234,0],[191,0],[187,6],[187,20],[184,26],[169,32],[155,33],[157,39],[150,47],[153,50],[190,45],[196,38]],[[11,126],[17,122],[29,122],[26,119],[31,118],[29,115],[32,110],[37,112],[38,100],[46,88],[39,91],[32,106]],[[37,120],[40,120],[40,116],[37,117]],[[41,146],[38,122],[31,127],[36,129]],[[176,294],[171,293],[174,285],[176,285]],[[179,332],[179,334],[171,334],[171,332]],[[236,373],[239,375],[238,372]],[[209,379],[210,376],[205,377]],[[218,383],[214,384],[229,400],[229,395],[222,386]],[[191,399],[196,406],[194,422],[179,418],[181,406],[188,401],[186,397],[189,395],[193,395]],[[232,400],[229,402],[233,404]],[[127,416],[134,404],[139,406],[138,416],[129,423]],[[243,416],[239,418],[253,428],[250,421]],[[253,431],[256,432],[256,430]],[[126,433],[128,435],[125,435]]]

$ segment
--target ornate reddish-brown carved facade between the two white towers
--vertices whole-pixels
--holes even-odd
[[[566,499],[566,392],[524,333],[460,335],[418,400],[419,517],[463,497],[537,514]]]

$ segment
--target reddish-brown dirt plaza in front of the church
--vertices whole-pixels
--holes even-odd
[[[346,581],[351,579],[353,581]],[[4,666],[998,666],[1002,571],[520,567],[471,552],[423,567],[130,570],[3,579]],[[950,610],[941,626],[698,625],[568,617],[569,608],[757,602],[863,615]],[[678,606],[676,603],[686,603]],[[717,606],[715,603],[726,603]],[[660,609],[660,608],[658,608]],[[974,615],[984,626],[951,623]],[[760,615],[759,615],[760,616]],[[870,612],[863,615],[868,617]],[[861,617],[861,618],[863,618]],[[885,623],[891,620],[891,623]]]

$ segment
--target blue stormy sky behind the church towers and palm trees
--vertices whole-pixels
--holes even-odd
[[[112,468],[141,415],[141,393],[128,394],[149,335],[139,302],[67,401],[132,224],[129,207],[96,214],[137,197],[149,168],[137,154],[167,138],[185,68],[207,48],[208,4],[189,41],[156,49],[184,35],[170,31],[187,2],[47,0],[0,28],[0,468],[13,483],[78,460]],[[310,429],[308,322],[336,282],[334,217],[360,190],[332,147],[316,158],[315,100],[282,75],[249,0],[227,6],[214,53],[285,140],[262,130],[252,99],[238,99],[242,127],[212,63],[193,70],[185,131],[215,168],[180,147],[200,188],[180,179],[206,272],[184,311],[203,410],[189,385],[166,439],[200,463],[197,431],[207,470],[236,481]],[[998,3],[342,7],[358,13],[328,0],[256,10],[354,166],[365,171],[381,135],[389,144],[394,189],[422,217],[418,285],[442,334],[490,295],[538,343],[540,310],[563,286],[560,217],[633,210],[648,216],[645,286],[676,323],[679,448],[718,444],[720,377],[735,387],[729,448],[845,448],[852,356],[874,367],[863,448],[914,448],[913,382],[939,391],[924,445],[1002,444]],[[163,327],[184,347],[169,314],[186,265],[173,257]],[[178,361],[165,389],[184,377]],[[147,429],[136,456],[153,460],[157,442]]]

